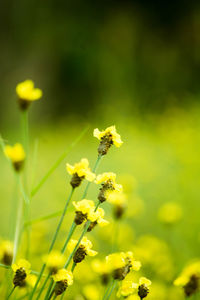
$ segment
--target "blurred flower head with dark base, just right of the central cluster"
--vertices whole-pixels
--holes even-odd
[[[126,195],[122,192],[113,191],[109,193],[107,200],[113,205],[114,217],[120,219],[126,209]]]

